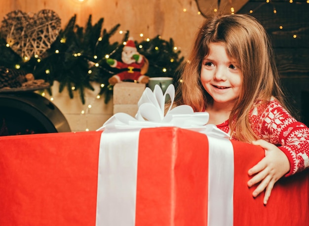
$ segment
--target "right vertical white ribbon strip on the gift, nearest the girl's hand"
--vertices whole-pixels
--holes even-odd
[[[208,226],[233,226],[233,145],[214,136],[208,144]]]

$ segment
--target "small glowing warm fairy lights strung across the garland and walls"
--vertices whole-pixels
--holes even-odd
[[[76,0],[76,1],[83,2],[83,0]],[[293,4],[293,3],[295,3],[295,2],[300,3],[301,1],[294,1],[294,0],[289,0],[289,1],[288,1],[289,4]],[[184,3],[183,3],[181,0],[178,0],[178,3],[179,3],[181,6],[184,5]],[[195,14],[195,15],[196,15],[196,13],[197,13],[197,15],[201,15],[201,16],[205,17],[206,15],[204,14],[204,12],[201,11],[199,1],[198,1],[198,0],[195,0],[195,3],[196,3],[196,6],[197,6],[197,11],[193,11],[193,10],[191,9],[191,7],[181,7],[181,8],[182,8],[182,11],[183,11],[184,13],[191,13],[191,14]],[[230,13],[231,13],[231,14],[234,14],[234,13],[235,13],[235,10],[234,10],[234,7],[233,7],[233,2],[232,2],[232,0],[229,0],[229,3],[230,3]],[[305,0],[305,1],[301,2],[301,3],[309,3],[309,0]],[[250,10],[248,11],[248,14],[252,14],[252,13],[256,12],[256,11],[257,11],[262,5],[264,5],[264,4],[271,4],[271,5],[272,5],[272,12],[273,12],[274,14],[278,13],[278,12],[277,12],[277,9],[276,9],[276,7],[275,7],[275,3],[274,3],[274,2],[271,1],[271,0],[265,0],[265,1],[262,1],[261,4],[258,5],[257,7],[255,7],[254,9],[250,9]],[[220,6],[220,0],[218,0],[217,4],[216,4],[215,6],[213,6],[213,8],[212,8],[211,10],[212,10],[213,12],[218,12],[219,6]],[[190,8],[190,9],[188,9],[188,8]],[[195,10],[196,10],[196,8],[195,8]],[[282,29],[283,29],[283,25],[280,25],[280,26],[279,26],[279,29],[282,30]],[[123,32],[124,32],[124,31],[119,31],[120,34],[122,34]],[[140,33],[139,36],[140,36],[141,38],[144,38],[145,35],[144,35],[143,33]],[[296,35],[296,34],[293,34],[293,38],[297,38],[297,35]],[[101,39],[101,40],[102,40],[102,39]],[[150,41],[150,38],[145,38],[145,40],[146,40],[146,41]],[[61,39],[60,41],[61,41],[61,42],[64,42],[65,40]],[[100,41],[100,38],[99,38],[98,41]],[[125,43],[123,43],[123,44],[125,45]],[[9,44],[7,44],[7,46],[9,47]],[[138,48],[142,49],[143,46],[138,46]],[[179,48],[179,47],[174,47],[175,50],[177,50],[178,48]],[[59,50],[56,50],[56,53],[59,53]],[[105,56],[105,58],[109,58],[112,54],[113,54],[113,52],[110,53],[110,54],[107,54],[107,55]],[[79,57],[79,56],[80,56],[80,53],[75,53],[74,56],[75,56],[75,57]],[[38,55],[36,55],[35,58],[37,58],[37,61],[38,61],[38,62],[40,61]],[[96,59],[97,56],[93,56],[93,58]],[[25,60],[28,60],[28,59],[25,59]],[[95,64],[95,66],[99,66],[98,63],[93,63],[93,64]],[[19,65],[16,65],[16,68],[19,68],[19,67],[20,67]],[[163,68],[162,70],[164,71],[164,68]],[[45,73],[48,74],[48,73],[49,73],[49,70],[46,69],[46,70],[45,70]],[[89,73],[89,74],[91,73],[91,70],[90,70],[90,69],[89,69],[88,73]],[[105,84],[100,84],[100,86],[101,86],[101,87],[104,87]],[[72,90],[75,90],[75,87],[72,87]],[[43,97],[45,97],[45,93],[44,93],[44,92],[42,92],[41,95],[42,95]],[[83,109],[82,109],[81,112],[80,112],[80,115],[81,115],[81,116],[86,117],[86,119],[85,119],[86,128],[84,129],[85,131],[89,131],[87,114],[90,113],[91,108],[96,104],[96,101],[98,101],[100,98],[101,98],[101,97],[100,97],[99,95],[97,95],[96,97],[90,98],[90,100],[88,99],[88,102],[84,105]],[[51,97],[49,97],[49,99],[50,99],[51,101],[53,101],[53,100],[54,100],[54,97],[51,96]]]

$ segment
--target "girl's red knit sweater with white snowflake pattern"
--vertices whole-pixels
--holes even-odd
[[[309,168],[309,128],[293,118],[278,101],[254,107],[249,121],[261,139],[275,144],[287,156],[291,169],[285,176]],[[229,121],[217,127],[229,132]]]

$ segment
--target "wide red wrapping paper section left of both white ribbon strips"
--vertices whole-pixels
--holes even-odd
[[[94,226],[100,136],[0,137],[0,225]]]

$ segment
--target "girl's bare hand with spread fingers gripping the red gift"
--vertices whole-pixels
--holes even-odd
[[[265,157],[249,169],[249,176],[255,175],[248,181],[248,186],[252,187],[261,182],[252,195],[256,197],[265,190],[263,202],[266,205],[274,184],[289,172],[290,163],[286,155],[275,145],[265,140],[252,141],[252,144],[259,145],[265,149]]]

